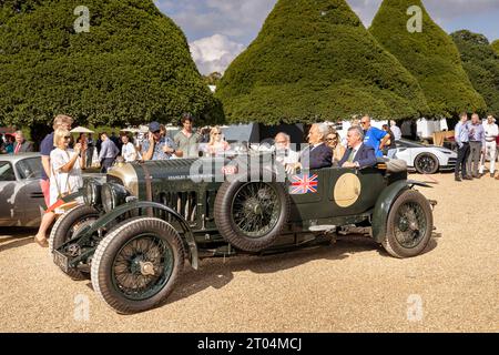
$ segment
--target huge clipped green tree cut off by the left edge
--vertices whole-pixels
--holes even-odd
[[[221,118],[179,27],[152,0],[4,0],[0,6],[0,121],[47,124]],[[90,32],[77,33],[78,6]]]

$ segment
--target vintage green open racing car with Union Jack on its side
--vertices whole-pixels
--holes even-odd
[[[405,169],[380,161],[286,174],[265,154],[248,156],[122,164],[105,183],[86,182],[85,204],[52,229],[54,263],[75,280],[90,274],[99,296],[128,314],[162,304],[185,261],[197,268],[208,256],[330,243],[346,226],[369,229],[395,257],[431,239],[436,202]]]

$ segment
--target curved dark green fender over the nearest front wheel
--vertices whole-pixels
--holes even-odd
[[[91,226],[82,229],[78,233],[78,235],[74,236],[74,239],[91,236],[94,233],[98,233],[100,229],[105,227],[108,224],[115,221],[121,215],[123,215],[130,211],[134,211],[134,210],[142,210],[142,211],[145,211],[146,213],[149,213],[147,210],[149,211],[161,210],[161,211],[165,211],[169,215],[172,215],[176,220],[176,222],[179,222],[179,224],[182,226],[182,230],[184,232],[183,236],[185,237],[185,242],[187,243],[187,246],[189,246],[187,252],[189,252],[191,265],[193,268],[197,270],[197,266],[198,266],[197,245],[194,240],[194,235],[191,231],[191,227],[189,226],[187,222],[184,220],[184,217],[182,215],[180,215],[176,211],[174,211],[174,210],[170,209],[169,206],[165,206],[164,204],[161,204],[161,203],[149,202],[149,201],[136,201],[136,202],[129,202],[126,204],[118,206],[110,213],[106,213],[103,216],[101,216]]]

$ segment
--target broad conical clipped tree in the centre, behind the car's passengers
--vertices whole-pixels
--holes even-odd
[[[216,94],[233,122],[401,119],[428,110],[415,78],[345,0],[279,0]]]

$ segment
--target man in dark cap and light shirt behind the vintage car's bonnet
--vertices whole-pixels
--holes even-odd
[[[149,132],[149,140],[142,144],[142,159],[144,161],[169,160],[174,155],[182,156],[182,152],[176,150],[175,142],[170,136],[161,135],[160,123],[151,122]]]

